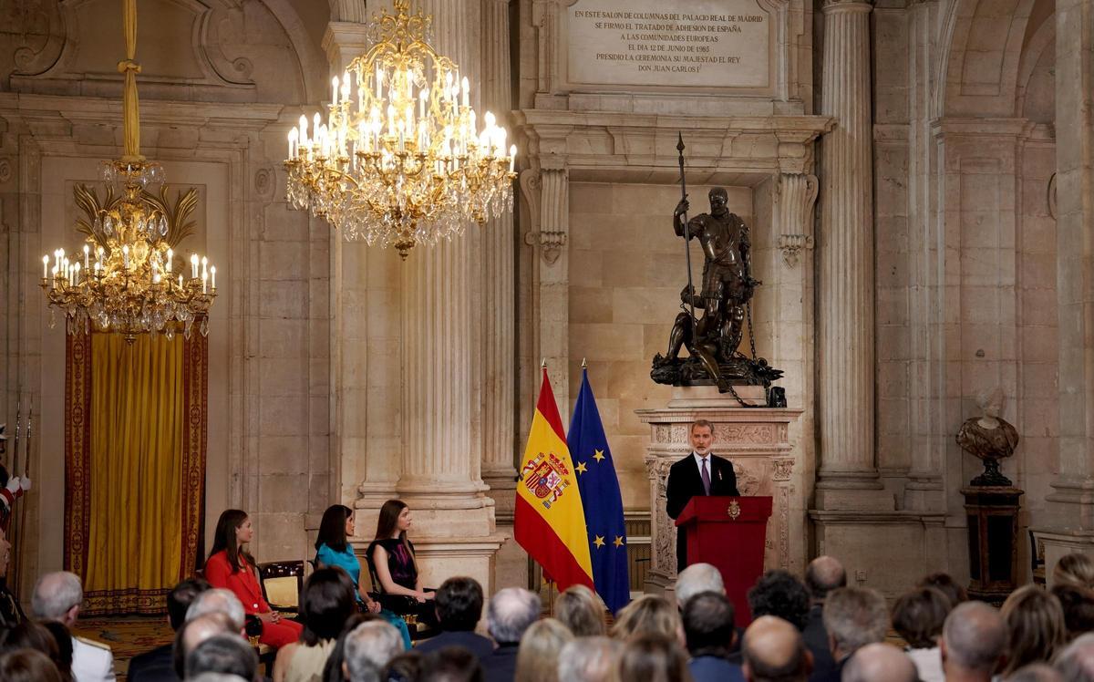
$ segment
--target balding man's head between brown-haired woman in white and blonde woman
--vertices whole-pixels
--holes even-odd
[[[979,601],[957,605],[942,626],[946,682],[989,682],[1006,652],[1009,632],[999,611]]]

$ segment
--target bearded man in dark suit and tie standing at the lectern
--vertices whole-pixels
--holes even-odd
[[[691,424],[691,454],[673,464],[668,470],[665,489],[668,517],[676,519],[696,495],[737,496],[737,476],[729,460],[710,452],[714,428],[710,421],[698,419]],[[687,566],[687,537],[676,533],[676,570]]]

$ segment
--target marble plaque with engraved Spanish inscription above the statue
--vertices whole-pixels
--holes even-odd
[[[757,0],[578,0],[566,21],[573,85],[770,85],[772,16]]]

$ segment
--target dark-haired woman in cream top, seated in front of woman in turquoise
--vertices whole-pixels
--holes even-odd
[[[313,573],[300,596],[304,632],[277,652],[274,682],[317,682],[350,615],[357,613],[353,581],[339,567]]]

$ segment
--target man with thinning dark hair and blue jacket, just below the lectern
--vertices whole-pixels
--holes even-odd
[[[696,682],[744,682],[741,667],[726,658],[737,633],[733,627],[733,603],[725,594],[700,592],[684,603],[680,614],[691,660],[688,668]]]

